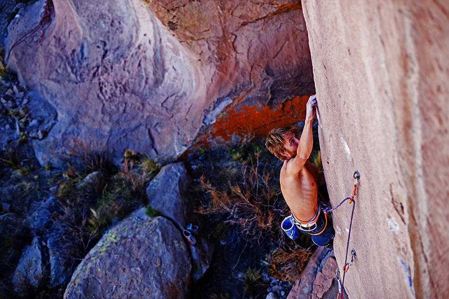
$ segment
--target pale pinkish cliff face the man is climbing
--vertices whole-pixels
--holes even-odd
[[[448,298],[448,3],[302,3],[334,206],[361,174],[346,291]],[[340,270],[351,208],[333,213]]]

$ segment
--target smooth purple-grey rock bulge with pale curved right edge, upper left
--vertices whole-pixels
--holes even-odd
[[[48,138],[34,143],[40,162],[74,141],[116,155],[181,153],[208,105],[192,55],[140,0],[53,2],[41,43],[35,35],[14,46],[39,22],[43,0],[19,13],[7,40],[7,63],[21,84],[57,110]]]

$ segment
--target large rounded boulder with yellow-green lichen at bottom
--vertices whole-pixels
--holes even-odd
[[[188,298],[192,265],[179,230],[141,208],[113,227],[75,270],[64,298]]]

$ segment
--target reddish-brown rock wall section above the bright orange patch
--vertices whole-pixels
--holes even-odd
[[[197,57],[206,78],[210,78],[208,96],[219,97],[216,107],[241,92],[245,93],[243,102],[251,106],[281,103],[291,95],[313,92],[300,2],[146,2]]]

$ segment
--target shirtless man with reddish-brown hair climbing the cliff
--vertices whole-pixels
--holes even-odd
[[[312,121],[316,113],[316,95],[309,98],[301,138],[299,130],[287,126],[274,128],[266,137],[265,146],[284,161],[280,170],[282,195],[298,230],[312,235],[318,246],[332,249],[335,231],[330,215],[322,212],[318,187],[324,185],[324,175],[308,160],[313,146]]]

